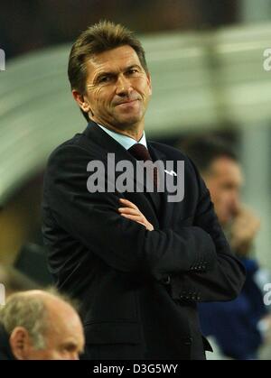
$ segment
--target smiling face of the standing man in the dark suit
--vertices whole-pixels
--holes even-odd
[[[105,51],[86,62],[86,108],[98,124],[119,130],[144,126],[151,80],[128,45]]]

